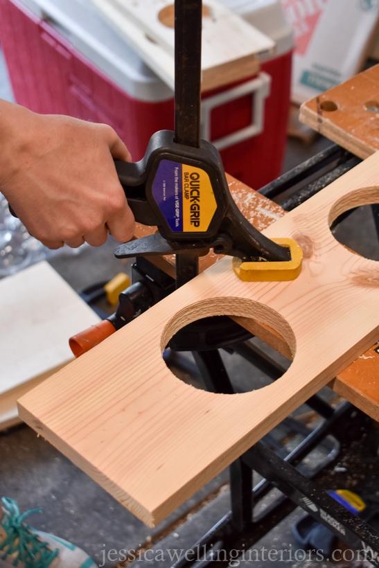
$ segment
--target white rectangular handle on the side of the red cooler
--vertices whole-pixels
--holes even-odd
[[[257,77],[247,82],[243,82],[236,87],[222,91],[217,95],[202,99],[201,114],[201,136],[205,140],[210,140],[211,136],[211,112],[212,109],[229,103],[229,101],[240,98],[247,94],[252,94],[252,123],[248,126],[231,132],[227,136],[222,136],[216,140],[212,140],[212,144],[218,150],[227,148],[247,138],[261,134],[263,131],[264,115],[265,115],[265,98],[270,94],[271,77],[264,71],[261,71]]]

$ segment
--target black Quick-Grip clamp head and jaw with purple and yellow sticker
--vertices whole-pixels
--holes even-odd
[[[298,265],[299,254],[295,243],[271,240],[247,221],[231,197],[218,150],[204,140],[200,148],[193,148],[175,143],[174,138],[174,132],[156,132],[141,161],[116,162],[134,218],[159,231],[120,245],[116,257],[188,251],[202,256],[213,249],[215,254],[239,259],[233,267],[244,280],[250,279],[245,278],[246,271],[267,262],[276,263],[275,278],[296,278],[293,257]],[[241,269],[241,263],[249,266]],[[270,269],[258,273],[260,280],[267,279],[267,273],[272,280]]]

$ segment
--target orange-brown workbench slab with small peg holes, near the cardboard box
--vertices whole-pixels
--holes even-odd
[[[299,120],[365,159],[379,148],[379,64],[308,100]]]

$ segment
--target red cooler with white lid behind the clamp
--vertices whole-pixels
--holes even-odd
[[[202,99],[202,136],[229,174],[258,189],[281,174],[292,28],[279,0],[222,1],[276,42],[257,76]],[[89,0],[0,0],[0,39],[17,103],[107,123],[134,161],[154,132],[173,130],[173,91]]]

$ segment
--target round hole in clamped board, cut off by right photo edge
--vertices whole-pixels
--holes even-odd
[[[345,247],[379,260],[379,188],[364,188],[343,197],[330,210],[329,227]]]

